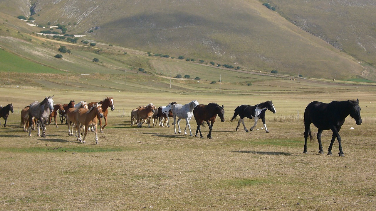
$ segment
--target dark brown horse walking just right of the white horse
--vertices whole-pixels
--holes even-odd
[[[215,122],[215,118],[217,118],[217,115],[219,116],[219,118],[221,118],[221,122],[224,122],[223,105],[222,107],[220,107],[217,103],[209,103],[208,105],[200,104],[193,109],[193,116],[196,119],[197,123],[196,137],[197,132],[200,131],[200,137],[203,138],[201,134],[201,125],[203,124],[203,121],[206,121],[209,126],[209,134],[207,135],[207,137],[209,139],[212,139],[211,131],[213,129],[213,124]]]

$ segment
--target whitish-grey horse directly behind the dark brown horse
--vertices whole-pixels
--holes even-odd
[[[188,126],[190,136],[193,136],[192,131],[191,131],[191,125],[189,124],[189,121],[191,121],[191,118],[193,116],[194,107],[196,107],[198,104],[199,104],[199,102],[197,102],[197,100],[193,100],[191,102],[188,102],[185,105],[182,105],[182,104],[173,104],[172,105],[171,111],[172,111],[172,115],[173,115],[173,118],[174,118],[174,122],[171,125],[174,125],[175,134],[176,134],[175,124],[177,123],[177,127],[179,128],[179,134],[180,134],[181,133],[181,131],[180,131],[180,121],[182,119],[185,119],[186,124],[185,124],[184,134],[187,134],[187,126]],[[178,118],[177,121],[176,121],[176,117]]]

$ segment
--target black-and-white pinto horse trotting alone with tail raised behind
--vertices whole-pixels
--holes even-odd
[[[253,125],[250,130],[252,131],[256,125],[258,119],[262,120],[262,123],[264,123],[265,132],[269,133],[268,128],[265,124],[265,112],[266,110],[270,110],[273,113],[276,113],[276,109],[274,108],[274,105],[271,101],[266,101],[257,105],[240,105],[236,107],[234,115],[232,116],[232,119],[230,122],[232,122],[234,119],[237,118],[239,115],[240,119],[238,121],[238,126],[236,127],[236,131],[239,129],[240,122],[243,124],[244,130],[248,132],[246,125],[244,124],[244,118],[254,119],[255,125]]]

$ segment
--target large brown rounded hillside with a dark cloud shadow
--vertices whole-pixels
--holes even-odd
[[[30,14],[24,1],[5,2],[16,8],[2,8],[5,14]],[[368,68],[257,0],[34,2],[39,25],[64,24],[67,33],[136,50],[328,79],[356,78]],[[373,79],[373,66],[367,71]]]

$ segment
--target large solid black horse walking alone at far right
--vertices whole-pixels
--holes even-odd
[[[332,146],[335,138],[337,137],[340,152],[338,155],[344,156],[341,146],[341,137],[338,134],[341,130],[345,118],[351,116],[355,119],[356,125],[362,124],[362,118],[360,117],[359,99],[347,100],[347,101],[333,101],[328,103],[313,101],[307,105],[304,111],[304,151],[307,154],[307,138],[313,140],[311,135],[311,123],[318,128],[317,140],[318,140],[318,153],[324,154],[323,146],[321,145],[321,133],[323,130],[332,130],[332,142],[329,145],[328,154],[332,155]]]

